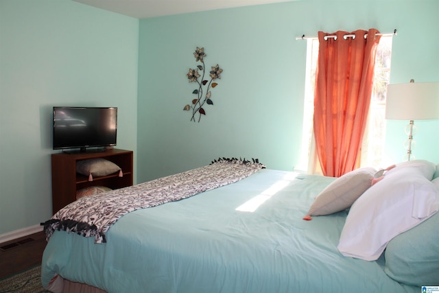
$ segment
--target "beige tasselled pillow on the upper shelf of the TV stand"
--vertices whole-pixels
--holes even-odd
[[[107,176],[118,171],[119,177],[122,177],[121,167],[102,158],[82,160],[76,163],[76,172],[88,176],[88,181],[93,181],[93,176]]]

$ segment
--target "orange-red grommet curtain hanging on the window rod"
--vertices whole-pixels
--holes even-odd
[[[372,93],[377,33],[375,29],[318,33],[313,128],[325,176],[340,177],[357,167]],[[325,36],[337,38],[325,40]]]

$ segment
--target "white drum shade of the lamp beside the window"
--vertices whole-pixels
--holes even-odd
[[[439,82],[388,84],[385,118],[439,119]]]

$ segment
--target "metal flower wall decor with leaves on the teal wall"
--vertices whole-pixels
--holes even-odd
[[[206,73],[206,67],[204,65],[206,53],[204,53],[204,47],[201,49],[197,47],[193,56],[195,56],[195,62],[201,62],[202,65],[198,65],[195,69],[189,69],[189,73],[187,73],[186,76],[189,82],[198,83],[198,89],[192,92],[197,96],[195,99],[192,99],[191,104],[187,104],[183,110],[192,110],[191,121],[195,122],[195,116],[198,115],[198,122],[200,122],[201,115],[206,115],[206,110],[203,108],[204,104],[213,105],[211,89],[218,85],[217,82],[214,81],[221,78],[222,69],[219,69],[219,65],[211,67],[212,70],[209,72],[211,80],[204,79],[204,74]],[[202,71],[202,75],[198,73],[199,70]],[[200,78],[200,80],[198,80],[198,78]]]

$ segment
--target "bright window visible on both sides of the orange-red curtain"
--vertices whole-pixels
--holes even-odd
[[[318,39],[307,40],[307,67],[305,78],[305,102],[302,129],[302,153],[296,169],[308,170],[311,159],[313,135],[314,85],[318,59]],[[361,166],[382,167],[385,139],[385,92],[390,81],[390,60],[392,57],[392,36],[381,36],[377,47],[375,73],[370,100],[368,125],[361,145]]]

